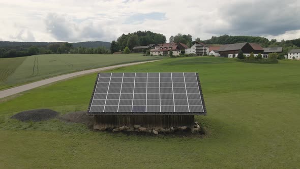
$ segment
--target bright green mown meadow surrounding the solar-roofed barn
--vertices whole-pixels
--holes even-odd
[[[0,103],[0,166],[76,168],[298,168],[300,62],[249,64],[212,57],[166,59],[112,72],[198,72],[209,134],[145,136],[91,131],[59,120],[18,122],[21,110],[85,110],[96,74]]]

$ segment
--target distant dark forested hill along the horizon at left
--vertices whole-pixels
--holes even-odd
[[[16,48],[16,47],[31,47],[31,46],[38,46],[38,47],[46,47],[50,44],[61,44],[64,42],[11,42],[11,41],[0,41],[0,47],[4,48]],[[103,41],[89,41],[89,42],[74,42],[71,43],[74,47],[99,47],[105,46],[107,49],[110,47],[110,42],[103,42]]]

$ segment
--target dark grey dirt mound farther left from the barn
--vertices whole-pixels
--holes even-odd
[[[33,121],[39,122],[44,120],[53,119],[58,115],[58,112],[51,109],[34,109],[19,112],[12,116],[12,119],[17,119],[22,122]]]

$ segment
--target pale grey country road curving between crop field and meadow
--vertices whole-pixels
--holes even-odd
[[[18,86],[18,87],[14,87],[14,88],[10,88],[10,89],[7,89],[7,90],[0,91],[0,99],[8,97],[8,96],[12,96],[14,94],[18,94],[18,93],[21,93],[21,92],[24,92],[24,91],[27,91],[27,90],[38,88],[40,86],[47,85],[47,84],[52,83],[52,82],[56,82],[56,81],[59,81],[59,80],[64,80],[64,79],[79,76],[79,75],[95,73],[95,72],[105,71],[105,70],[119,68],[119,67],[132,66],[132,65],[149,63],[149,62],[156,62],[156,61],[159,61],[159,60],[107,66],[107,67],[102,67],[102,68],[97,68],[97,69],[83,70],[83,71],[79,71],[79,72],[75,72],[75,73],[69,73],[69,74],[64,74],[64,75],[60,75],[60,76],[55,76],[55,77],[47,78],[47,79],[44,79],[44,80],[28,83],[26,85],[22,85],[22,86]]]

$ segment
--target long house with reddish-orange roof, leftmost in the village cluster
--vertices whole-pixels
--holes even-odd
[[[178,45],[163,45],[156,46],[154,49],[150,50],[151,55],[169,55],[170,51],[173,52],[173,55],[179,55],[180,49]]]

